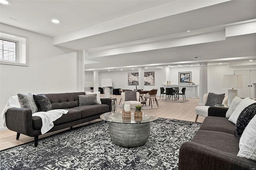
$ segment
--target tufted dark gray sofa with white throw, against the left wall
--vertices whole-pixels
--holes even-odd
[[[112,109],[111,99],[100,99],[101,105],[79,106],[78,95],[85,95],[85,92],[45,95],[50,100],[52,109],[68,110],[67,114],[54,121],[54,127],[48,132],[68,127],[72,129],[75,125],[99,119],[101,114],[110,112]],[[34,146],[37,146],[38,136],[41,135],[42,119],[40,117],[32,117],[31,109],[8,109],[6,112],[6,126],[8,129],[17,132],[17,140],[20,134],[34,137]]]

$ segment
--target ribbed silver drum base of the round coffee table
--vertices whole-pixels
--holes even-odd
[[[109,135],[112,142],[118,146],[142,146],[149,138],[150,122],[138,124],[109,122]]]

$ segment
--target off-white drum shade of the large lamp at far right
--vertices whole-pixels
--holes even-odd
[[[224,75],[222,87],[243,88],[243,75]]]

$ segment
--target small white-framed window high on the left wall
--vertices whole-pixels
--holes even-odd
[[[0,33],[0,64],[28,66],[27,39]]]

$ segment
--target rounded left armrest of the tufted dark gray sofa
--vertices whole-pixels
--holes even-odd
[[[5,117],[8,129],[28,136],[34,136],[31,109],[11,108],[7,110]]]

